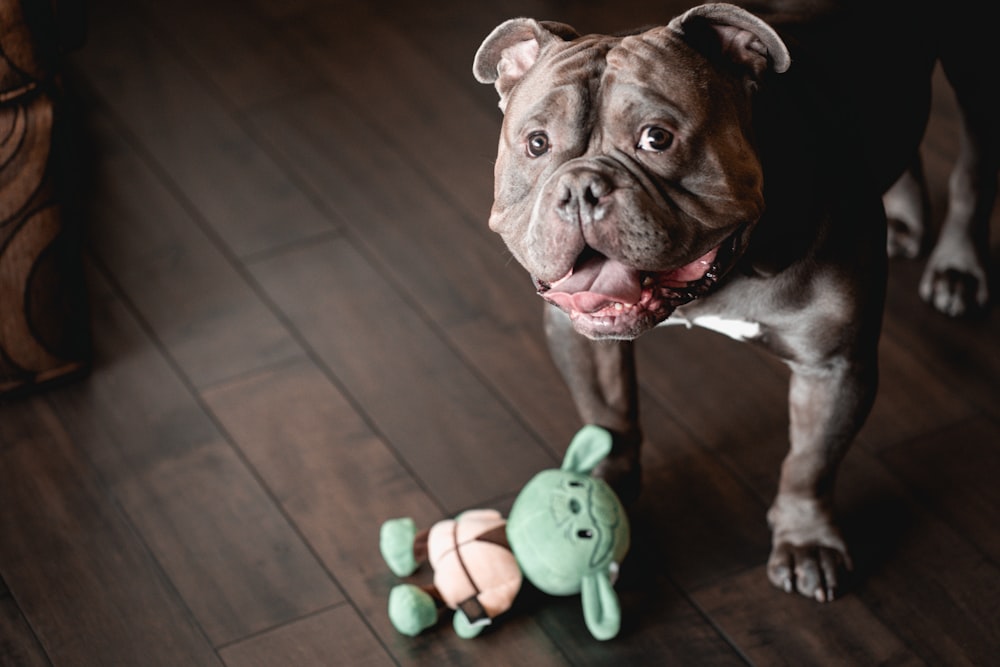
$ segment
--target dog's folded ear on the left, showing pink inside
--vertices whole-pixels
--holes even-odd
[[[507,106],[507,95],[521,80],[546,44],[575,39],[576,30],[565,23],[510,19],[497,26],[476,52],[472,73],[480,83],[492,83],[500,95],[500,108]]]

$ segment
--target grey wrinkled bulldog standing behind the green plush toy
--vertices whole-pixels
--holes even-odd
[[[767,348],[792,370],[768,577],[821,602],[851,568],[833,487],[876,393],[887,255],[926,235],[935,64],[966,130],[920,288],[948,314],[988,298],[1000,117],[967,62],[983,46],[945,38],[958,17],[841,4],[705,4],[626,35],[512,19],[473,66],[504,115],[489,225],[546,302],[583,421],[615,434],[597,474],[638,491],[636,337],[676,323]]]

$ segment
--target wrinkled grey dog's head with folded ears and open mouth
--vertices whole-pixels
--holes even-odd
[[[512,19],[476,54],[504,122],[490,227],[591,338],[638,336],[711,290],[764,208],[751,97],[789,55],[695,7],[626,37]]]

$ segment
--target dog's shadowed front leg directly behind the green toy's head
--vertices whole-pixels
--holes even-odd
[[[611,431],[611,455],[594,474],[606,480],[623,502],[639,493],[638,388],[635,353],[630,341],[594,341],[579,334],[563,311],[545,307],[545,334],[585,424]]]

